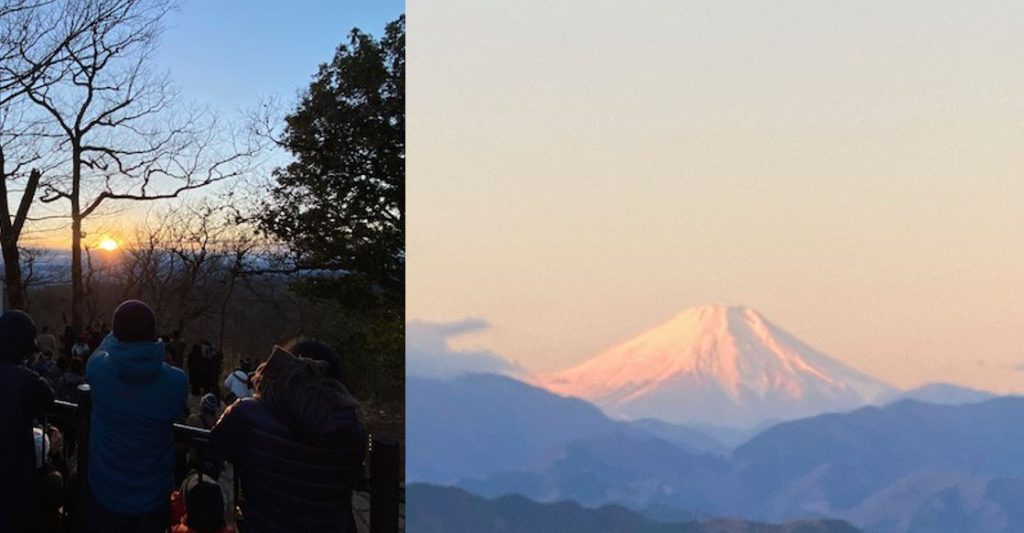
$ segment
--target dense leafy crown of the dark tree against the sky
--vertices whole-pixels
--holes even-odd
[[[300,268],[404,290],[406,19],[377,41],[358,30],[322,64],[281,144],[261,227]]]

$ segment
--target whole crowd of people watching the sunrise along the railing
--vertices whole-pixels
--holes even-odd
[[[59,339],[25,312],[0,315],[0,531],[59,531],[79,452],[88,531],[355,531],[367,435],[334,350],[293,340],[221,381],[219,350],[185,347],[178,331],[158,337],[138,301],[111,328]],[[83,390],[87,452],[44,417]],[[209,446],[175,443],[175,423],[210,430]],[[218,483],[225,461],[242,488],[233,508]]]

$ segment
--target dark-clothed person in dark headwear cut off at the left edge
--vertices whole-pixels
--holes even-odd
[[[36,464],[32,419],[53,404],[53,391],[25,362],[36,350],[36,324],[23,311],[0,315],[0,531],[22,531]]]

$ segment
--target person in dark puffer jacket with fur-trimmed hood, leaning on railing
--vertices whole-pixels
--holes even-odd
[[[357,403],[325,361],[274,347],[254,395],[231,404],[210,446],[234,465],[246,495],[244,531],[355,531],[352,488],[367,433]]]

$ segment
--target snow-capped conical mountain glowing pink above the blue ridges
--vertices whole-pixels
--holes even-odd
[[[754,426],[872,403],[892,389],[745,307],[687,309],[534,382],[627,418]]]

